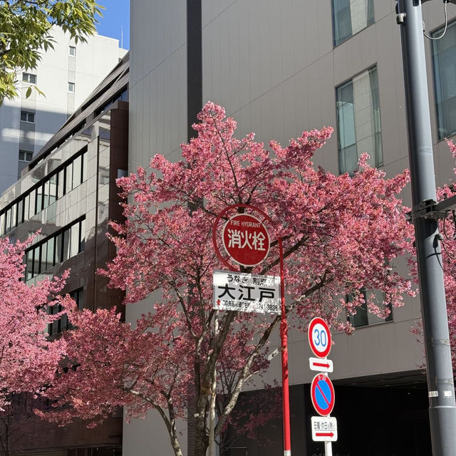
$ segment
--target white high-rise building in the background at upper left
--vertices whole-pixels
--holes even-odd
[[[33,154],[46,144],[127,51],[116,39],[90,36],[77,44],[61,28],[54,49],[35,70],[19,73],[20,97],[0,108],[0,192],[14,184]],[[27,88],[36,85],[44,95]]]

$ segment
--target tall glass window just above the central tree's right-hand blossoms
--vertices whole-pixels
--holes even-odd
[[[371,68],[336,88],[340,172],[352,173],[359,155],[368,152],[370,164],[383,165],[377,69]]]

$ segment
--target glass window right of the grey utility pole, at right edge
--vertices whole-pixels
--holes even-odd
[[[442,28],[432,33],[440,36]],[[439,140],[456,133],[456,21],[439,40],[432,41],[435,108]]]

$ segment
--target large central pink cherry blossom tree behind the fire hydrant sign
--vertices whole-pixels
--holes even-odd
[[[387,179],[363,155],[353,175],[333,175],[312,162],[332,128],[265,147],[253,133],[235,138],[236,122],[214,103],[204,106],[194,128],[197,138],[182,145],[181,161],[155,155],[149,169],[118,180],[128,198],[125,223],[111,223],[118,253],[102,274],[126,291],[125,304],[149,299],[150,314],[133,327],[115,309],[81,312],[64,304],[77,328],[64,336],[74,368],[47,391],[56,401],[48,419],[62,424],[78,416],[95,425],[118,405],[131,417],[156,410],[176,456],[182,455],[177,418],[186,419],[192,407],[195,454],[203,456],[214,371],[229,385],[219,381],[219,436],[244,384],[261,384],[267,346],[280,323],[275,314],[224,311],[214,333],[212,271],[223,265],[212,246],[212,225],[222,209],[253,204],[271,218],[269,257],[239,269],[279,275],[276,239],[283,239],[291,326],[305,330],[318,315],[351,332],[347,315],[366,304],[365,296],[368,310],[385,317],[390,306],[403,305],[404,294],[414,294],[408,276],[394,266],[413,249],[408,209],[398,197],[407,171]],[[380,291],[383,302],[375,300],[380,293],[363,290]]]

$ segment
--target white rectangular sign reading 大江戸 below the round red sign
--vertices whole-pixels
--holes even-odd
[[[280,314],[280,277],[215,270],[213,309]]]

